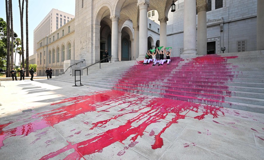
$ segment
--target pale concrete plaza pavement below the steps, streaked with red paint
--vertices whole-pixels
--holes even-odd
[[[0,159],[264,159],[264,114],[52,79],[1,85]]]

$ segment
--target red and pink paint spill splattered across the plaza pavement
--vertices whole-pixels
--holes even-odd
[[[145,97],[148,98],[148,96]],[[132,102],[129,101],[130,98],[137,100],[133,100]],[[42,112],[34,115],[34,117],[42,117],[43,119],[41,120],[36,120],[26,125],[9,129],[7,131],[2,130],[3,128],[7,127],[10,123],[1,125],[0,146],[3,146],[3,141],[11,136],[27,136],[37,130],[43,129],[45,127],[52,127],[55,124],[69,120],[78,114],[84,114],[86,112],[97,112],[97,110],[99,110],[102,106],[111,106],[111,104],[116,104],[120,101],[122,101],[122,103],[128,103],[129,101],[131,105],[133,103],[140,104],[145,101],[145,98],[142,98],[142,96],[139,97],[139,95],[133,93],[109,90],[104,93],[98,93],[96,95],[67,98],[62,102],[54,104],[63,105],[64,103],[72,101],[74,101],[74,103],[71,103],[68,106],[63,106],[52,111]],[[166,101],[166,103],[164,103],[164,101]],[[124,108],[127,108],[127,106],[125,106]],[[43,156],[41,159],[53,158],[56,155],[64,153],[65,151],[70,149],[74,149],[75,152],[71,153],[69,157],[76,157],[76,159],[80,159],[80,157],[85,155],[102,152],[103,148],[106,148],[116,142],[124,144],[125,142],[127,143],[128,140],[129,144],[125,145],[128,145],[129,147],[134,147],[136,144],[140,143],[138,141],[139,137],[148,134],[150,136],[153,136],[154,139],[153,144],[151,144],[149,147],[151,147],[152,149],[162,148],[162,146],[164,145],[164,141],[163,138],[161,138],[161,135],[172,124],[178,123],[178,120],[180,119],[185,119],[185,114],[187,111],[198,112],[198,110],[202,110],[202,115],[194,117],[194,119],[202,120],[205,118],[206,115],[211,115],[214,118],[224,115],[224,112],[221,109],[221,107],[200,105],[197,103],[183,102],[173,99],[152,98],[151,101],[149,101],[149,103],[146,105],[142,105],[138,108],[133,108],[131,110],[128,110],[127,112],[120,112],[120,114],[116,114],[113,117],[109,117],[109,119],[92,123],[92,127],[90,128],[90,130],[95,129],[96,127],[106,127],[107,125],[109,125],[109,122],[111,120],[117,120],[117,118],[120,118],[122,116],[125,117],[126,115],[134,115],[126,122],[123,122],[123,125],[109,129],[103,133],[94,135],[87,134],[87,136],[91,135],[90,137],[88,137],[89,139],[84,140],[82,142],[78,142],[74,145],[69,142],[69,145],[53,153],[49,153],[48,155]],[[168,115],[171,114],[173,114],[174,116],[172,116],[172,118],[168,120]],[[160,123],[162,120],[166,121],[166,125],[161,126],[161,130],[159,132],[155,133],[153,130],[150,132],[146,131],[148,126],[153,123]],[[134,126],[135,123],[137,124],[136,126]],[[76,129],[70,131],[75,130]],[[79,133],[81,133],[81,131],[75,132],[75,134]],[[71,136],[73,135],[70,135],[69,137]],[[128,139],[128,137],[130,137],[130,139]],[[47,141],[46,143],[49,142]],[[118,155],[120,156],[122,156],[123,154],[125,154],[125,150],[122,150],[118,153]]]

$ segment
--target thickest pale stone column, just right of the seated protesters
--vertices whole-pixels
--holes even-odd
[[[196,49],[196,1],[184,0],[182,58],[197,55]]]

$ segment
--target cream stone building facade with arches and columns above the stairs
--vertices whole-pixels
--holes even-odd
[[[218,54],[221,47],[225,52],[264,49],[257,38],[263,35],[264,22],[257,20],[263,1],[178,0],[175,12],[171,5],[172,0],[76,0],[75,18],[38,43],[38,73],[49,66],[63,71],[81,61],[80,67],[88,66],[105,50],[112,61],[125,61],[143,60],[158,46],[172,47],[172,57],[182,58]],[[160,25],[147,18],[152,10]]]

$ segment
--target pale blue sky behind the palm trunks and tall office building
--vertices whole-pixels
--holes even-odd
[[[21,38],[20,31],[20,13],[18,7],[18,0],[12,0],[13,9],[13,26],[14,31]],[[22,5],[22,3],[21,3]],[[29,0],[29,56],[33,54],[33,31],[37,25],[45,18],[45,16],[52,10],[52,8],[75,15],[75,0]],[[5,1],[0,2],[0,17],[6,21]],[[24,45],[26,50],[26,3],[24,2]],[[19,56],[17,56],[19,57]]]

